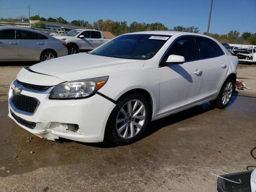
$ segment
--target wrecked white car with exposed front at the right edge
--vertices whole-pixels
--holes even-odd
[[[247,64],[256,64],[256,47],[239,48],[233,51],[238,57],[239,62]]]

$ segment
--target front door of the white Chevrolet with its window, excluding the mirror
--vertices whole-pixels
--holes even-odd
[[[186,107],[200,98],[203,77],[195,37],[181,36],[175,40],[162,62],[172,54],[184,56],[185,62],[159,68],[159,115]]]

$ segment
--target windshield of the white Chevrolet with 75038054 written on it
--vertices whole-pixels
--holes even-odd
[[[170,37],[170,35],[154,34],[122,35],[103,44],[90,54],[126,59],[149,59],[160,50]]]

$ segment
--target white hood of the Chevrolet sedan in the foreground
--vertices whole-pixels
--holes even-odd
[[[55,76],[64,81],[73,81],[138,70],[143,66],[144,60],[80,53],[41,62],[31,66],[30,69],[40,74]]]

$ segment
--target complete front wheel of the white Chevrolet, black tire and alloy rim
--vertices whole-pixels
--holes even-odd
[[[131,110],[128,109],[129,105]],[[150,115],[149,103],[141,94],[134,93],[120,98],[108,118],[105,139],[117,145],[138,141],[146,130]]]

